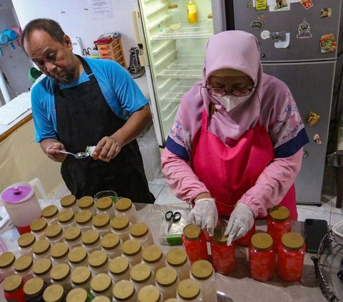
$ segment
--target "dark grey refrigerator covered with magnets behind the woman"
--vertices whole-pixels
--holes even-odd
[[[277,7],[277,2],[286,6]],[[334,79],[339,73],[337,55],[343,46],[342,1],[312,0],[308,9],[293,0],[267,4],[275,6],[257,10],[252,1],[226,1],[227,19],[233,16],[229,23],[234,29],[257,37],[264,72],[277,76],[292,91],[310,140],[295,183],[297,203],[320,204]],[[317,119],[311,112],[320,116],[313,126],[307,122]]]

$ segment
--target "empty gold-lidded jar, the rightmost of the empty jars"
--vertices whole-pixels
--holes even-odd
[[[199,283],[204,301],[217,301],[216,275],[209,261],[195,261],[191,267],[190,278]]]

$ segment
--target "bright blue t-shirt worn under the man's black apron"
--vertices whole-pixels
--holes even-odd
[[[120,119],[127,120],[141,107],[149,104],[129,73],[115,61],[85,58],[93,71],[109,107]],[[89,77],[84,71],[79,79],[71,84],[61,85],[60,89],[77,86]],[[58,139],[56,109],[54,99],[54,80],[45,77],[31,91],[32,115],[36,131],[36,142],[44,139]]]

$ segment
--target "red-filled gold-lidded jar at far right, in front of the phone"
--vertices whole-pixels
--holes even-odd
[[[300,281],[304,269],[305,244],[299,233],[282,236],[277,256],[277,274],[285,282]]]

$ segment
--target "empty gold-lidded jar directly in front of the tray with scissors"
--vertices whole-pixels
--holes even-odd
[[[174,268],[180,280],[189,278],[191,263],[189,263],[187,253],[182,248],[173,248],[166,254],[166,266]]]

